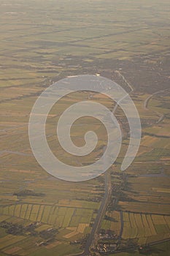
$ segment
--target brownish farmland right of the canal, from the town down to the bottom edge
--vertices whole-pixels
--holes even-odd
[[[167,92],[166,97],[168,97]],[[149,246],[145,248],[146,252],[155,255],[161,255],[161,251],[155,248],[159,248],[159,244],[163,244],[163,241],[166,241],[169,247],[170,152],[169,131],[166,129],[169,126],[169,118],[167,105],[166,108],[161,108],[163,94],[159,97],[157,95],[156,101],[159,106],[156,109],[152,108],[155,105],[155,97],[152,97],[147,111],[143,112],[142,105],[139,105],[139,111],[144,119],[146,118],[144,115],[150,115],[150,111],[152,111],[151,116],[154,116],[154,112],[162,113],[163,120],[158,122],[159,115],[156,115],[155,120],[143,124],[143,135],[137,157],[133,165],[128,167],[125,173],[121,173],[120,164],[128,145],[128,141],[124,140],[124,150],[120,152],[117,163],[112,169],[112,199],[101,222],[100,232],[105,235],[98,236],[98,252],[102,252],[104,248],[100,237],[104,237],[106,239],[104,242],[107,244],[110,241],[118,244],[117,251],[131,251],[133,255],[139,255],[138,246],[145,248],[147,244]],[[144,99],[142,102],[144,104]],[[138,106],[138,103],[136,105]],[[166,248],[166,244],[164,246]],[[162,255],[166,255],[166,250]]]

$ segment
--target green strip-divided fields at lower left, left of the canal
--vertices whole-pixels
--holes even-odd
[[[18,204],[14,206],[5,206],[1,208],[1,231],[4,236],[0,238],[1,251],[9,252],[10,249],[15,247],[19,248],[18,253],[24,255],[31,255],[31,252],[39,249],[38,244],[42,243],[42,232],[48,232],[50,229],[58,230],[57,235],[53,238],[50,244],[46,245],[47,252],[54,253],[53,249],[58,249],[58,246],[69,246],[77,238],[82,238],[90,232],[90,222],[93,220],[93,209],[74,208],[74,207],[61,207],[44,204]],[[34,227],[36,232],[36,239],[30,230],[24,233],[23,236],[12,233],[7,235],[4,233],[5,224],[9,223],[11,229],[8,233],[12,233],[12,225],[22,225],[24,227]],[[2,228],[3,227],[3,228]],[[16,226],[14,228],[14,232]],[[32,232],[32,231],[31,231]],[[50,232],[50,231],[49,231]],[[20,233],[22,234],[23,231]],[[40,236],[40,237],[39,237]],[[50,236],[50,235],[49,235]],[[22,246],[18,246],[22,240]],[[27,250],[29,243],[31,248]],[[5,241],[5,242],[4,242]],[[19,244],[18,244],[19,243]],[[79,249],[72,245],[69,249],[73,252],[79,252]],[[19,252],[20,251],[20,252]],[[27,252],[26,252],[27,251]]]

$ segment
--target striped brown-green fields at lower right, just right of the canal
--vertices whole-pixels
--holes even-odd
[[[107,213],[111,220],[104,220],[101,228],[120,233],[120,212]],[[154,241],[169,238],[170,216],[158,214],[135,214],[123,212],[123,239],[137,239],[138,244],[150,244]]]

